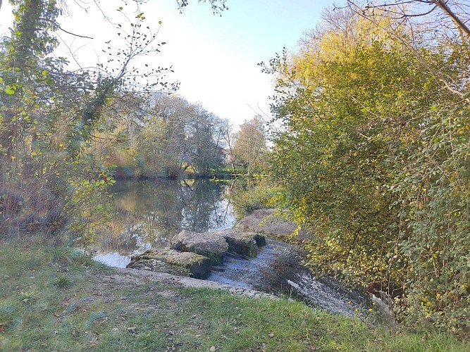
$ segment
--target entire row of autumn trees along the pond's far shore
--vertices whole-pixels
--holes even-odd
[[[258,117],[233,130],[177,94],[118,94],[90,151],[116,179],[228,178],[254,170],[266,148]]]

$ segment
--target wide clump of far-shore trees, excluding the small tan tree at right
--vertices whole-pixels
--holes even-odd
[[[223,163],[224,120],[176,94],[118,94],[99,125],[95,156],[116,177],[206,177]]]

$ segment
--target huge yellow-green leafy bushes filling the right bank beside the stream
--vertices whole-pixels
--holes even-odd
[[[422,44],[391,17],[325,16],[299,53],[265,67],[283,122],[274,199],[314,234],[309,265],[402,295],[411,325],[465,334],[469,111],[440,77],[466,86],[467,47]]]

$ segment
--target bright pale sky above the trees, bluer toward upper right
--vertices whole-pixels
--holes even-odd
[[[314,28],[321,11],[331,6],[326,0],[227,0],[228,10],[214,15],[210,4],[193,0],[181,14],[175,0],[149,0],[136,8],[133,1],[67,0],[68,11],[60,19],[68,32],[92,37],[75,37],[58,32],[62,42],[56,55],[71,57],[70,68],[106,62],[105,42],[116,46],[120,37],[115,26],[104,20],[128,25],[123,13],[135,20],[143,12],[145,23],[155,32],[156,42],[166,42],[161,52],[147,56],[135,65],[169,67],[174,73],[168,81],[180,82],[178,94],[191,103],[240,125],[254,115],[269,116],[273,78],[261,73],[257,63],[268,62],[286,46],[295,51],[306,30]],[[80,6],[78,6],[80,4]],[[123,11],[117,8],[123,7]],[[8,33],[13,23],[11,5],[4,1],[0,9],[0,34]],[[161,25],[159,25],[161,21]],[[76,62],[75,62],[76,61]]]

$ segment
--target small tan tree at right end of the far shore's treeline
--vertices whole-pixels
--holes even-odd
[[[240,131],[235,135],[233,155],[242,163],[248,175],[262,167],[266,155],[266,132],[261,116],[245,120],[240,125]]]

